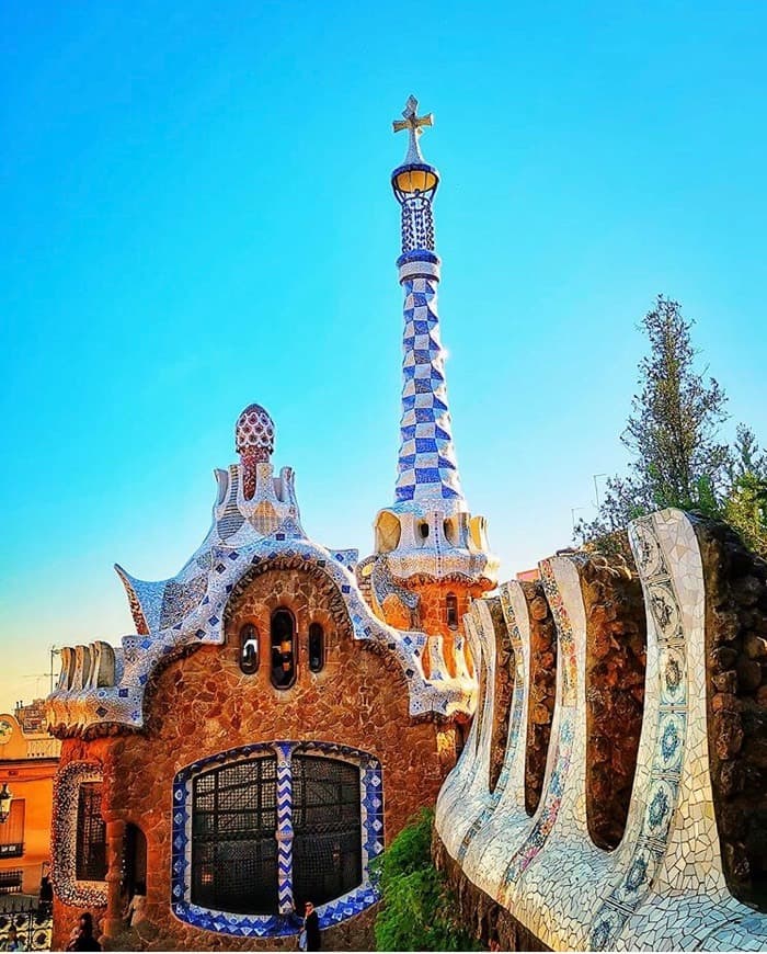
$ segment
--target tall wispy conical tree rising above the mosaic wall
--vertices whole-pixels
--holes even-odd
[[[607,481],[597,518],[576,526],[584,543],[664,507],[717,515],[725,495],[730,452],[718,430],[728,417],[726,397],[695,370],[692,321],[677,302],[659,295],[642,327],[650,354],[639,364],[640,389],[621,435],[633,459],[628,477]]]

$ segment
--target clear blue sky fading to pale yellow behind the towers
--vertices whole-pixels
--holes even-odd
[[[767,4],[11,2],[0,12],[0,709],[133,632],[250,401],[304,525],[393,497],[391,121],[413,92],[469,504],[508,578],[593,514],[663,292],[767,442]]]

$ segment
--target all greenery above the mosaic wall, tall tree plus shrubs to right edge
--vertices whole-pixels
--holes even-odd
[[[730,448],[719,440],[726,396],[695,368],[692,321],[677,302],[659,295],[642,326],[650,353],[639,364],[639,393],[621,441],[632,454],[629,474],[610,477],[595,520],[575,535],[610,552],[630,520],[678,507],[731,523],[752,549],[767,556],[767,458],[746,427]]]

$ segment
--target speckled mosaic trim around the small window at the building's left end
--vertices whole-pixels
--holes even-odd
[[[51,883],[59,900],[77,908],[106,906],[106,882],[77,878],[77,819],[80,786],[87,782],[103,784],[100,765],[70,762],[54,782],[54,818],[50,839]]]

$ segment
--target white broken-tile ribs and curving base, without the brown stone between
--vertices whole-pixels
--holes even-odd
[[[495,636],[486,607],[477,603],[467,632],[488,673],[484,711],[440,792],[436,830],[465,876],[553,950],[762,951],[767,916],[730,894],[722,868],[709,772],[697,538],[686,514],[665,510],[634,521],[630,540],[646,607],[648,663],[620,844],[611,852],[595,845],[586,820],[586,623],[577,555],[539,565],[559,651],[538,809],[529,817],[524,798],[527,606],[519,584],[507,583],[502,605],[516,673],[504,784],[491,794]]]

